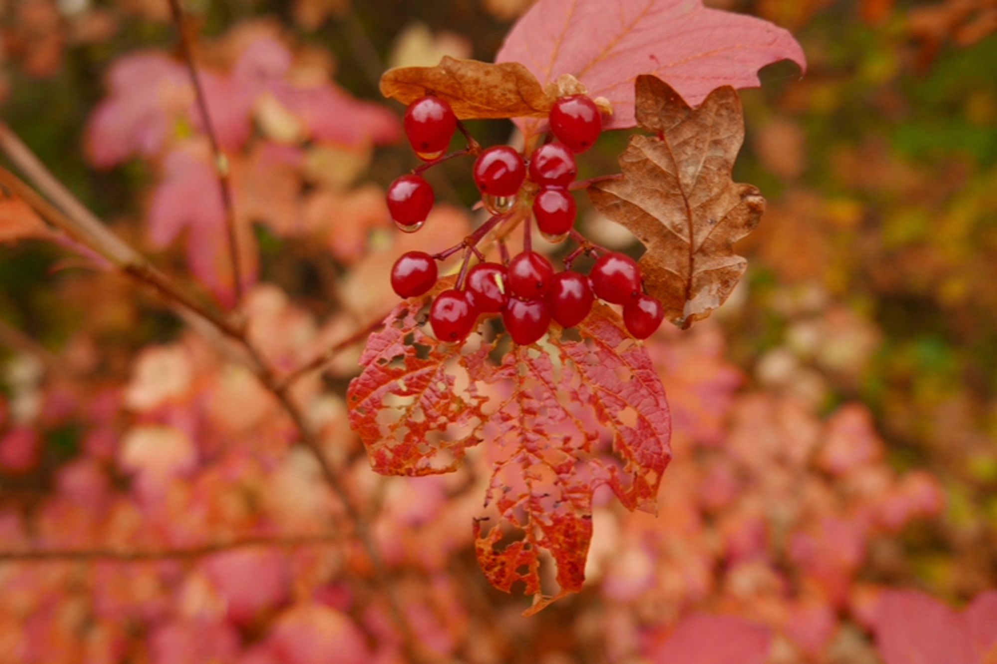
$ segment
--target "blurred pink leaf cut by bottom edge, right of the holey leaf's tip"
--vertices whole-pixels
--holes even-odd
[[[654,664],[763,664],[772,635],[763,625],[734,616],[697,613],[647,653]]]

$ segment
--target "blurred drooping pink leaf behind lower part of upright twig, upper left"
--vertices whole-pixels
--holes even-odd
[[[225,210],[207,151],[199,144],[185,144],[166,156],[163,167],[164,178],[149,212],[150,242],[166,247],[187,231],[190,271],[219,300],[233,302]],[[236,231],[243,285],[248,287],[256,280],[256,244],[247,224],[236,224]]]

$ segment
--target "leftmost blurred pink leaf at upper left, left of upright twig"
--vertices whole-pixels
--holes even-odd
[[[87,157],[100,168],[155,157],[193,101],[186,72],[166,55],[143,52],[119,60],[108,78],[111,94],[87,126]]]

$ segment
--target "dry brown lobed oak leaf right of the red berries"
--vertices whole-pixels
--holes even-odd
[[[680,327],[710,315],[747,269],[734,243],[758,225],[765,198],[731,179],[744,142],[741,100],[733,88],[710,93],[692,109],[653,76],[637,78],[638,124],[620,179],[588,188],[592,202],[644,243],[648,292]]]

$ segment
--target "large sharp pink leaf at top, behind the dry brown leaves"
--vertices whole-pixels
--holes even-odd
[[[780,60],[805,68],[803,49],[767,21],[702,0],[539,0],[515,24],[496,62],[519,62],[541,85],[577,77],[613,105],[608,129],[634,127],[634,80],[653,74],[692,106],[723,86],[756,88],[758,70]],[[533,124],[537,121],[523,121]]]

